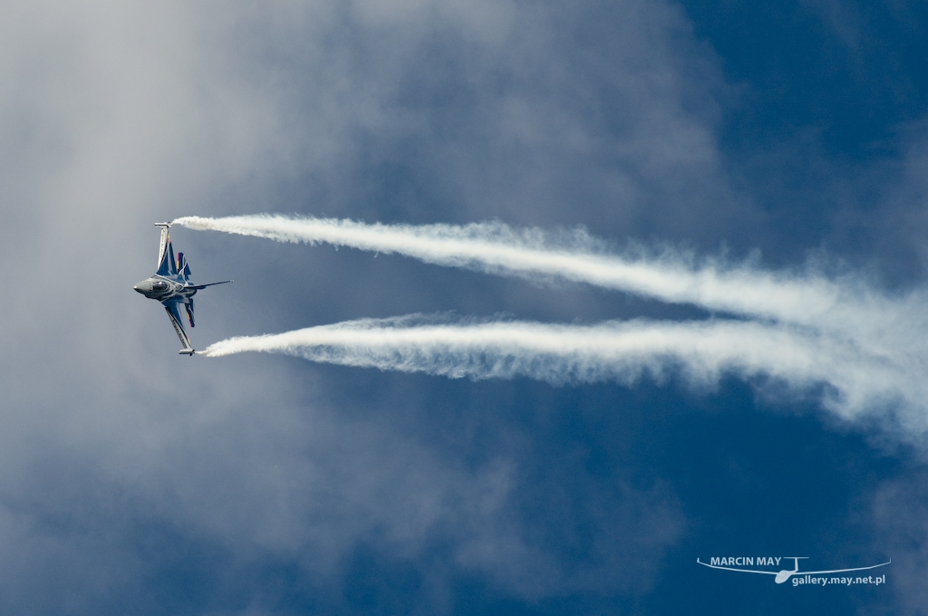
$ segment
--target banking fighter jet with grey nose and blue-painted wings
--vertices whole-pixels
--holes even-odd
[[[177,332],[177,338],[184,348],[180,350],[182,355],[193,356],[193,346],[184,331],[184,323],[181,321],[180,304],[184,304],[187,309],[187,320],[190,327],[193,327],[193,296],[200,289],[206,289],[213,285],[224,285],[232,280],[223,280],[222,282],[211,282],[206,285],[191,285],[190,264],[184,258],[183,252],[177,253],[177,260],[174,261],[174,248],[171,246],[171,232],[168,230],[171,223],[155,223],[155,226],[161,227],[161,243],[158,247],[158,271],[154,276],[146,278],[139,282],[133,289],[147,297],[149,300],[157,300],[164,304],[164,310],[171,319],[171,325]]]

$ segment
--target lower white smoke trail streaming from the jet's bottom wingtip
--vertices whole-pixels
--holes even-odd
[[[249,351],[451,378],[521,376],[554,383],[631,384],[645,375],[663,379],[676,371],[702,385],[715,383],[726,372],[766,376],[800,390],[827,384],[831,389],[826,388],[824,403],[845,417],[888,401],[922,407],[928,392],[922,381],[909,378],[905,366],[868,355],[846,341],[742,321],[435,324],[411,315],[230,338],[202,354]]]

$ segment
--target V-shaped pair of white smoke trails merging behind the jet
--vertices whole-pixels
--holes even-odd
[[[328,242],[395,252],[428,263],[535,279],[561,277],[663,302],[689,302],[748,321],[590,327],[528,323],[424,325],[400,319],[352,321],[277,336],[224,340],[205,354],[274,351],[350,366],[451,377],[526,376],[550,381],[660,376],[678,366],[693,380],[723,371],[767,375],[795,387],[828,384],[825,403],[844,416],[905,408],[910,425],[928,421],[928,296],[889,297],[850,277],[770,273],[741,265],[693,266],[672,254],[627,259],[583,232],[550,240],[537,229],[502,224],[366,225],[350,220],[251,215],[174,221],[277,241]]]

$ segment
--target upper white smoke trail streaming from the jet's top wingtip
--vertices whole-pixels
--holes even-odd
[[[530,278],[562,279],[619,289],[662,302],[692,303],[710,311],[816,327],[854,340],[870,353],[905,353],[910,332],[928,332],[922,291],[890,299],[851,278],[813,273],[770,273],[747,265],[694,267],[682,256],[626,259],[602,242],[575,232],[554,242],[539,229],[516,231],[500,223],[472,225],[367,225],[351,220],[255,214],[174,221],[192,229],[326,242],[360,250],[395,252],[427,263]],[[899,326],[902,327],[899,327]]]

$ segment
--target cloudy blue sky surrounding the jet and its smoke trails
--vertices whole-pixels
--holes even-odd
[[[898,308],[864,325],[908,337],[891,376],[920,391],[924,3],[88,0],[6,14],[7,610],[925,613],[921,403],[848,410],[830,403],[837,381],[700,381],[673,363],[550,384],[188,359],[131,289],[154,268],[151,224],[186,215],[582,226],[614,254],[856,285]],[[198,348],[405,314],[730,316],[173,231],[196,281],[236,280],[198,296]],[[847,588],[696,564],[761,555],[893,563],[885,585]]]

